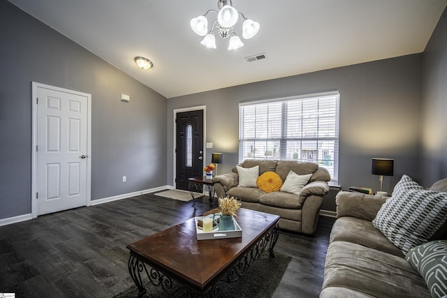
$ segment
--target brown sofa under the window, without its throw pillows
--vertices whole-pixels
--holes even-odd
[[[228,174],[221,174],[212,179],[218,198],[226,196],[241,200],[242,207],[263,211],[280,216],[279,228],[314,234],[318,223],[318,214],[323,204],[323,196],[328,193],[330,174],[316,163],[295,161],[254,160],[240,163],[240,167],[259,166],[259,175],[265,172],[276,172],[282,181],[286,180],[292,170],[298,175],[312,174],[309,182],[299,195],[274,191],[265,193],[259,188],[238,186],[237,168]]]

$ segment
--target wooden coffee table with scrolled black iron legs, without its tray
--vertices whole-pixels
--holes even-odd
[[[203,215],[218,212],[219,209],[213,209]],[[240,238],[197,240],[195,220],[191,218],[129,244],[129,273],[139,297],[146,292],[142,285],[144,276],[168,294],[213,297],[219,292],[217,281],[224,276],[227,282],[239,279],[266,246],[274,257],[279,216],[241,208],[235,219],[242,228]]]

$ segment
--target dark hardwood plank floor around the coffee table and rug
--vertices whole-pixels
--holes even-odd
[[[207,199],[197,207],[147,194],[0,227],[0,292],[113,297],[133,284],[126,245],[202,214]],[[314,237],[281,230],[275,251],[293,260],[273,297],[318,297],[333,223],[321,216]]]

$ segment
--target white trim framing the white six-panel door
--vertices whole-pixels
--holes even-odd
[[[80,91],[64,89],[60,87],[55,87],[47,84],[42,84],[38,82],[31,82],[31,125],[32,125],[32,135],[31,135],[31,217],[37,217],[37,203],[36,203],[36,193],[37,193],[37,89],[47,88],[56,91],[61,91],[65,93],[78,94],[80,96],[87,97],[87,206],[91,205],[91,94],[83,93]]]

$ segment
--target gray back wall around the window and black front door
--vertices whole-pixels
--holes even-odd
[[[334,68],[277,80],[244,84],[168,99],[168,133],[173,133],[173,110],[207,106],[207,142],[223,153],[219,172],[229,172],[238,159],[238,104],[247,100],[340,92],[339,184],[378,191],[379,177],[371,174],[371,158],[395,158],[394,177],[385,177],[392,191],[409,174],[420,180],[420,90],[422,54]],[[173,146],[168,138],[168,148]],[[168,183],[173,184],[173,154],[168,152]]]

